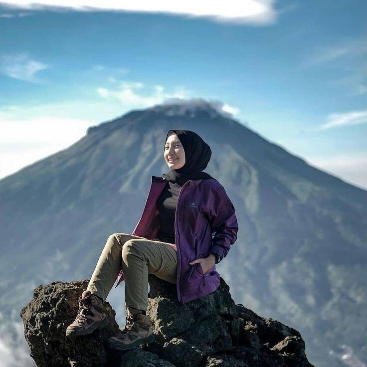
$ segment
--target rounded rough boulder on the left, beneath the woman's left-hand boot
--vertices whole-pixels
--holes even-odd
[[[65,335],[78,313],[78,298],[87,285],[88,280],[39,286],[33,291],[32,301],[21,310],[25,339],[37,367],[103,366],[108,362],[103,341],[119,330],[116,312],[108,302],[104,304],[108,318],[105,329],[96,331],[93,337],[69,339]]]

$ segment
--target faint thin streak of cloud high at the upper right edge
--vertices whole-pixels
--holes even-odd
[[[366,39],[349,39],[338,45],[317,47],[312,55],[308,55],[301,67],[310,67],[334,61],[341,57],[354,57],[367,52]]]

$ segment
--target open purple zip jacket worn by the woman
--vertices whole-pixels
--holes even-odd
[[[167,181],[152,176],[152,184],[133,235],[156,239],[159,229],[157,199]],[[190,265],[194,259],[209,253],[224,258],[237,239],[238,224],[234,206],[224,187],[215,179],[189,180],[179,193],[175,216],[177,246],[177,296],[188,302],[214,292],[219,286],[219,273],[213,265],[205,274],[201,265]],[[215,233],[214,233],[215,232]],[[121,271],[116,287],[123,281]]]

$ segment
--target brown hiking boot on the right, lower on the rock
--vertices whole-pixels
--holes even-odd
[[[135,312],[132,314],[129,310],[125,328],[116,337],[109,338],[107,344],[111,349],[125,351],[152,342],[154,334],[149,315]]]

